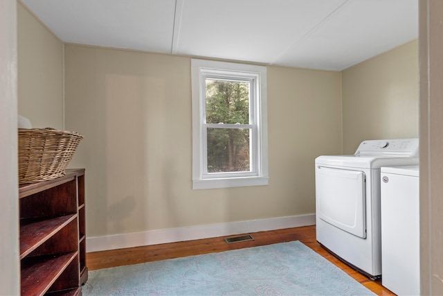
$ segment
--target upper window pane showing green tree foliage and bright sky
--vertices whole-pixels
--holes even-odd
[[[249,82],[206,79],[206,123],[249,123]]]

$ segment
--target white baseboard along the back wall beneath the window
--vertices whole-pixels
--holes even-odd
[[[158,245],[160,243],[175,243],[178,241],[192,241],[201,238],[264,232],[315,224],[316,215],[309,214],[215,225],[151,230],[147,232],[132,232],[129,234],[115,234],[111,236],[95,236],[86,239],[86,246],[87,252],[98,252],[123,249],[126,247],[139,247],[142,245]]]

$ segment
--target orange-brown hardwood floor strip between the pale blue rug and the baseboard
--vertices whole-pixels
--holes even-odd
[[[359,281],[363,286],[372,290],[377,295],[395,295],[390,290],[381,286],[381,280],[372,281],[360,272],[350,268],[342,261],[336,259],[316,241],[315,226],[279,229],[269,232],[255,232],[251,234],[253,241],[239,243],[226,243],[224,238],[206,238],[197,241],[183,241],[179,243],[165,243],[161,245],[148,245],[143,247],[131,247],[127,249],[109,250],[103,252],[87,253],[87,266],[89,270],[111,268],[120,265],[130,265],[148,261],[171,259],[183,256],[208,254],[211,252],[223,252],[243,247],[255,247],[258,245],[270,245],[287,241],[301,241],[312,250],[334,263],[348,275]]]

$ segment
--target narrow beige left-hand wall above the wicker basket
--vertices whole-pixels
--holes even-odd
[[[63,43],[17,1],[18,108],[35,128],[64,128]]]

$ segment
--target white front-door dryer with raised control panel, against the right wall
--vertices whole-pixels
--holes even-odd
[[[419,164],[418,139],[363,141],[316,158],[316,238],[371,279],[381,275],[380,168]]]

